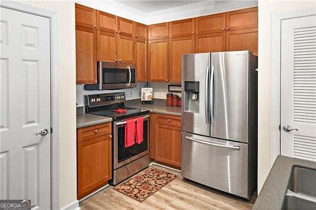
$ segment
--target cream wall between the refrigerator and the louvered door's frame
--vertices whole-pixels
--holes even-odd
[[[272,49],[272,14],[301,10],[315,7],[314,0],[259,0],[259,27],[258,27],[258,193],[260,192],[274,160],[271,155],[272,144],[278,139],[271,139],[271,132],[278,131],[272,127],[271,106],[271,54]]]

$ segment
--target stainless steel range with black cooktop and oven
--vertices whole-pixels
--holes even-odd
[[[149,110],[126,107],[125,93],[85,95],[85,112],[111,117],[112,168],[114,185],[148,167],[149,157]],[[116,110],[116,111],[114,111]],[[126,110],[126,111],[125,111]],[[143,117],[143,141],[125,147],[126,120]]]

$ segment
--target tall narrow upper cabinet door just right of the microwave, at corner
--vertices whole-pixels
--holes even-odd
[[[139,38],[134,39],[136,81],[147,82],[147,41]]]

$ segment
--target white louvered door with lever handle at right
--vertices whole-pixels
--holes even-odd
[[[280,153],[316,161],[315,15],[281,22],[280,89]]]

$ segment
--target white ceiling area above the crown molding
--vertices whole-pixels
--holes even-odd
[[[136,9],[140,12],[150,13],[162,10],[174,9],[207,2],[210,0],[113,0],[119,4]]]

